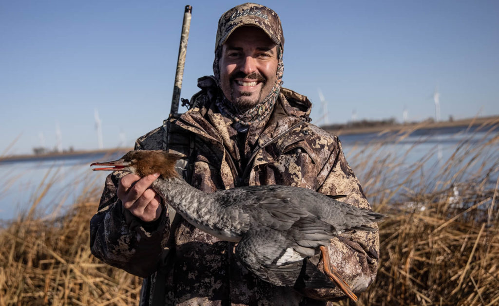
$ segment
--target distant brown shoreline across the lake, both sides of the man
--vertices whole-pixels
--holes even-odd
[[[473,127],[480,125],[493,125],[499,123],[499,116],[490,117],[476,117],[468,118],[454,121],[441,121],[441,122],[418,122],[418,123],[408,123],[408,124],[392,124],[392,125],[379,125],[373,127],[345,127],[340,129],[328,128],[327,126],[322,126],[321,128],[333,135],[356,135],[356,134],[384,134],[389,132],[399,132],[399,131],[411,131],[419,129],[440,129],[440,128],[453,128],[453,127]],[[47,153],[47,154],[20,154],[20,155],[8,155],[0,157],[0,163],[5,161],[20,161],[20,160],[32,160],[32,159],[51,159],[54,157],[78,157],[81,155],[88,154],[101,154],[101,153],[126,153],[133,150],[133,148],[112,148],[112,149],[102,149],[102,150],[78,150],[71,152],[61,152],[61,153]]]

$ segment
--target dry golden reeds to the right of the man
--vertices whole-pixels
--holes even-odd
[[[374,208],[389,215],[380,223],[377,279],[357,304],[499,305],[497,122],[429,169],[438,145],[409,165],[406,155],[385,154],[410,132],[348,157]]]

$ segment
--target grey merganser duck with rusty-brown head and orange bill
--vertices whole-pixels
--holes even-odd
[[[295,288],[338,286],[357,301],[330,264],[326,246],[344,231],[374,231],[368,224],[384,215],[339,202],[338,196],[293,186],[243,186],[207,193],[175,171],[182,157],[166,151],[131,151],[118,160],[91,166],[110,166],[93,170],[120,170],[142,177],[159,172],[151,186],[165,202],[197,228],[238,243],[236,256],[262,280]],[[317,249],[324,273],[308,259]]]

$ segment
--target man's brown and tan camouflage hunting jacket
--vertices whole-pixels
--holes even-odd
[[[306,97],[282,89],[270,118],[242,137],[213,103],[210,82],[200,79],[203,90],[191,100],[196,106],[175,122],[187,135],[182,138],[190,139],[191,185],[207,192],[293,185],[344,194],[344,202],[370,208],[338,138],[307,123],[311,103]],[[163,128],[153,130],[137,140],[136,149],[167,149],[167,136]],[[99,211],[90,221],[91,249],[104,262],[145,278],[141,305],[326,305],[344,298],[337,288],[298,293],[263,282],[235,259],[234,243],[180,216],[172,225],[166,209],[153,224],[141,222],[116,197],[122,175],[117,171],[106,179]],[[356,293],[374,280],[378,252],[378,232],[347,232],[329,246],[332,264]],[[319,256],[313,260],[322,269]]]

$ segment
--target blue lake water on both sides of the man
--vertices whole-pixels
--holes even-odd
[[[410,135],[358,134],[340,136],[347,160],[352,165],[361,184],[369,188],[379,188],[371,183],[367,169],[376,166],[380,160],[387,160],[389,171],[403,180],[407,173],[419,165],[418,171],[427,181],[438,183],[436,169],[444,167],[451,156],[462,154],[461,163],[470,166],[461,177],[472,176],[484,164],[499,164],[498,130],[471,128],[446,128],[418,130]],[[476,154],[474,150],[481,148]],[[41,214],[58,213],[68,204],[74,203],[82,193],[100,193],[107,171],[90,171],[94,161],[117,159],[122,153],[88,153],[78,156],[57,158],[32,158],[22,161],[0,162],[0,219],[15,218],[20,212],[29,210],[40,198],[37,208]],[[477,156],[478,155],[478,156]],[[467,160],[467,158],[469,160]],[[395,163],[395,166],[393,164]],[[362,165],[362,166],[360,166]],[[393,167],[391,167],[392,165]],[[452,169],[452,171],[459,169]],[[490,184],[496,183],[497,171],[491,175]],[[383,175],[383,174],[381,174]],[[466,177],[464,177],[466,178]],[[385,181],[386,182],[386,181]],[[395,184],[395,182],[391,182]],[[379,184],[379,183],[378,183]],[[46,189],[46,190],[45,190]],[[94,191],[92,191],[94,190]]]

